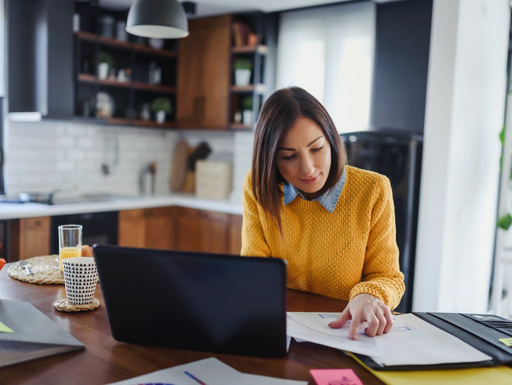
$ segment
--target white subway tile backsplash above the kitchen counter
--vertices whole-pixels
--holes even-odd
[[[7,191],[12,195],[69,184],[90,193],[136,195],[140,173],[150,162],[157,162],[156,193],[168,194],[174,147],[184,139],[189,145],[206,141],[212,156],[221,154],[232,160],[237,190],[233,196],[241,196],[252,150],[252,133],[162,131],[59,121],[10,122],[7,130],[5,173]],[[103,163],[109,165],[109,175],[103,175]]]

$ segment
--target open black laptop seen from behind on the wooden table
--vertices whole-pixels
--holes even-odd
[[[286,262],[95,246],[113,337],[259,357],[286,354]]]

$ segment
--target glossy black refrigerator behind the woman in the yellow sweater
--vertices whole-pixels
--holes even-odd
[[[345,133],[342,139],[347,147],[349,165],[386,175],[391,181],[400,270],[406,284],[406,291],[395,310],[410,313],[423,136],[379,129]]]

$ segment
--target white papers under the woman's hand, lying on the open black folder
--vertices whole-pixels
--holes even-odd
[[[286,333],[298,340],[368,355],[381,366],[435,365],[492,359],[414,314],[393,316],[391,332],[376,337],[365,334],[367,325],[364,323],[354,341],[348,336],[350,321],[343,328],[329,328],[329,323],[340,314],[288,312]]]

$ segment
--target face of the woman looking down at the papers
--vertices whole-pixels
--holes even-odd
[[[299,118],[279,143],[277,165],[283,178],[306,198],[316,198],[331,169],[331,146],[318,124]]]

